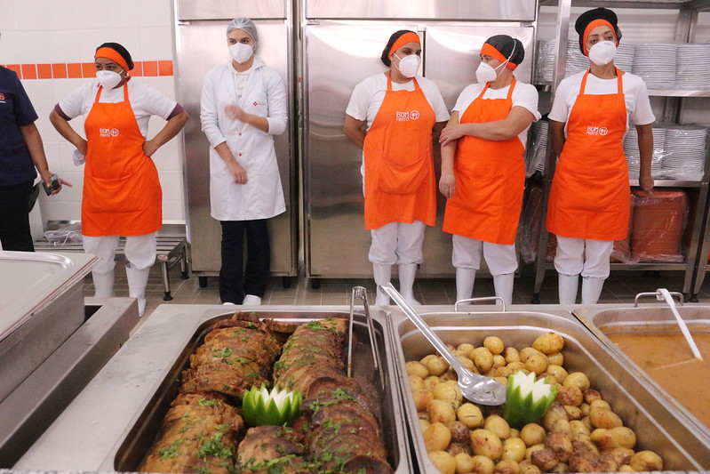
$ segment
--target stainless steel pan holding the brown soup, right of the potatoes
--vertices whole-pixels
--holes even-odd
[[[710,332],[710,306],[684,305],[677,306],[678,313],[688,325],[691,333]],[[650,392],[664,403],[673,406],[680,412],[688,422],[703,436],[710,439],[710,428],[700,422],[685,406],[682,406],[672,395],[664,390],[658,382],[655,382],[649,374],[646,374],[641,367],[618,349],[607,337],[606,334],[612,332],[626,332],[625,328],[634,326],[634,332],[641,327],[654,333],[677,333],[678,324],[675,321],[671,309],[665,305],[634,306],[634,305],[596,305],[586,308],[573,309],[572,313],[585,325],[602,343],[610,350],[616,358],[623,364],[633,367],[633,370],[640,374],[642,382]],[[690,349],[689,353],[690,353]],[[704,354],[705,358],[710,358],[710,354]],[[707,395],[707,394],[704,394]]]

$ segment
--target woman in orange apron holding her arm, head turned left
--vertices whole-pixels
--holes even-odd
[[[461,92],[439,139],[439,189],[448,197],[443,231],[453,235],[457,301],[471,298],[482,253],[496,296],[507,304],[513,300],[523,153],[528,128],[540,117],[537,90],[513,76],[524,56],[520,40],[507,35],[487,39],[476,70],[478,83]]]

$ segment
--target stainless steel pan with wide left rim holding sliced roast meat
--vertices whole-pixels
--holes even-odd
[[[300,310],[259,307],[258,317],[303,323],[347,317],[343,307]],[[14,467],[20,470],[121,470],[138,468],[178,390],[189,354],[214,323],[230,317],[221,306],[162,305],[76,398],[50,430]],[[385,314],[373,311],[386,387],[382,424],[388,461],[400,474],[412,472]],[[363,315],[355,315],[354,376],[371,376],[373,362]]]

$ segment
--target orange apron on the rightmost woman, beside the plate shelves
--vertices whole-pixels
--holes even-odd
[[[615,94],[585,94],[587,70],[567,122],[554,172],[546,228],[562,237],[627,237],[631,194],[624,156],[626,102],[621,71]]]

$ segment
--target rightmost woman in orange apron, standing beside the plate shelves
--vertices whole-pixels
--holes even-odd
[[[623,139],[629,116],[638,131],[642,189],[653,190],[653,150],[646,85],[614,66],[621,32],[606,8],[582,13],[575,29],[589,69],[562,80],[550,111],[550,133],[559,162],[547,209],[546,229],[557,236],[554,267],[561,304],[594,304],[609,277],[614,240],[626,238],[630,191]],[[566,131],[566,137],[565,137]]]

